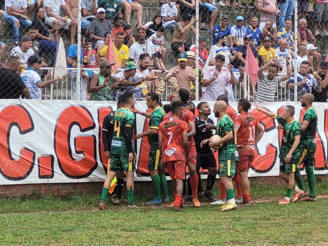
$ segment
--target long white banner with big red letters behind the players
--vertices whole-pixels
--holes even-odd
[[[212,109],[214,102],[209,104]],[[282,112],[287,104],[262,106],[271,112]],[[295,106],[295,118],[299,119],[304,110],[299,103],[289,104]],[[232,106],[237,109],[237,103]],[[147,110],[145,102],[137,102],[135,107]],[[328,103],[316,103],[314,107],[319,115],[315,173],[327,174]],[[0,100],[0,184],[104,181],[107,161],[102,155],[101,125],[113,110],[116,102]],[[252,113],[265,125],[266,132],[257,145],[249,175],[277,176],[281,132],[279,135],[274,120],[254,109]],[[213,114],[210,118],[216,122]],[[148,122],[137,115],[137,133],[147,130]],[[149,180],[145,178],[148,151],[147,138],[139,139],[136,181]]]

